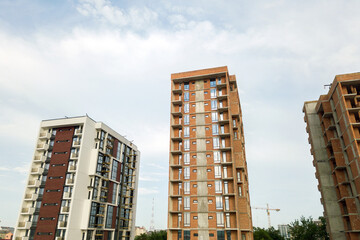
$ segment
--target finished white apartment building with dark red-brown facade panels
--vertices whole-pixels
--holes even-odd
[[[41,122],[15,240],[134,239],[139,151],[91,118]]]

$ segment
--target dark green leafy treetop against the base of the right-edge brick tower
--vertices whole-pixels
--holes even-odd
[[[320,217],[321,223],[317,225],[311,217],[301,217],[290,223],[289,230],[294,240],[328,240],[325,218]]]

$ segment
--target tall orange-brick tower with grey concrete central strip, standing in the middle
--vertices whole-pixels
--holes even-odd
[[[252,239],[236,78],[227,67],[171,75],[169,240]]]

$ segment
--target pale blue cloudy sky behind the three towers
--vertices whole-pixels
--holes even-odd
[[[0,221],[14,226],[40,121],[88,114],[142,152],[136,224],[166,228],[170,74],[235,74],[251,205],[323,212],[302,106],[358,72],[360,2],[0,0]],[[253,209],[254,226],[267,227]]]

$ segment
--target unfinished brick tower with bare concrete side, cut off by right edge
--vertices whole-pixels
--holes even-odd
[[[360,73],[305,102],[306,130],[331,239],[360,239]]]

